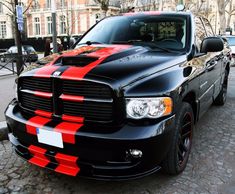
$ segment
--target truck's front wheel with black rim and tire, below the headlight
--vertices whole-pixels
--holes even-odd
[[[167,174],[177,175],[185,169],[192,147],[193,127],[192,107],[189,103],[183,102],[176,115],[176,126],[170,150],[162,162],[162,168]]]

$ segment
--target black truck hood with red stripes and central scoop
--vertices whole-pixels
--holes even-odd
[[[185,55],[141,46],[99,44],[43,58],[28,67],[22,76],[108,81],[120,87],[120,84],[128,85],[185,60]]]

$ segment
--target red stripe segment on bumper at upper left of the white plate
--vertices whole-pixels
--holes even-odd
[[[37,135],[36,128],[42,128],[46,123],[51,121],[51,119],[35,116],[26,122],[26,131],[29,134]]]

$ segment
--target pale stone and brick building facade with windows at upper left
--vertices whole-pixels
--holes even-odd
[[[100,6],[93,0],[55,0],[58,36],[79,35],[102,18]],[[52,36],[52,0],[19,0],[23,6],[24,31],[28,38]],[[107,15],[120,11],[118,1],[111,1]],[[0,0],[0,39],[14,38],[14,7],[10,1]]]

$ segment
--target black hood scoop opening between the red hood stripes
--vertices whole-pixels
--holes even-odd
[[[90,63],[98,60],[97,57],[87,57],[87,56],[71,56],[71,57],[62,57],[61,65],[62,66],[75,66],[75,67],[84,67]]]

